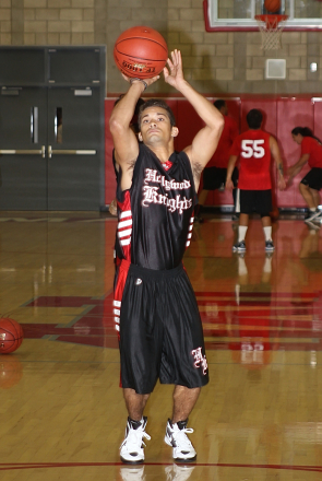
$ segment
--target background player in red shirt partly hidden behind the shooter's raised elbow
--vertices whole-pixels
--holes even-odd
[[[211,159],[207,166],[203,171],[203,188],[199,195],[199,202],[194,212],[195,214],[194,221],[196,222],[203,222],[203,218],[201,216],[201,213],[202,213],[202,208],[206,201],[208,191],[220,189],[223,187],[225,188],[227,165],[229,161],[229,151],[234,140],[239,133],[236,121],[234,120],[232,117],[228,116],[228,108],[226,102],[218,98],[217,101],[214,102],[214,106],[224,116],[225,126],[216,152],[214,153],[213,157]],[[236,187],[238,184],[237,167],[234,168],[231,178],[234,183],[234,190],[232,190],[234,206],[236,207]]]

